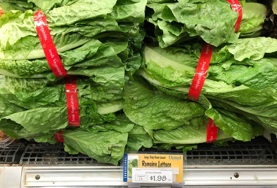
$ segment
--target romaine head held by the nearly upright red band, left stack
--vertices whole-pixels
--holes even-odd
[[[110,90],[90,79],[77,80],[80,124],[99,125],[115,120],[123,108],[122,90]],[[0,88],[0,125],[7,122],[39,134],[68,126],[64,82],[31,93],[11,93]],[[11,108],[13,107],[13,108]],[[129,130],[131,130],[129,128]]]

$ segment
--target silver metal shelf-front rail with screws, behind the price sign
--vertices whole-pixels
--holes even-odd
[[[0,182],[3,182],[0,188],[127,187],[127,184],[122,181],[120,167],[87,164],[0,165]],[[263,185],[276,187],[277,165],[270,167],[268,165],[189,165],[185,171],[185,183],[186,186]]]

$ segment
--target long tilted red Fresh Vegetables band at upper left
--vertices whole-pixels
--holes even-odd
[[[57,49],[50,35],[45,14],[43,14],[41,10],[38,10],[34,14],[34,24],[49,67],[55,76],[64,77],[64,75],[67,75],[66,70],[62,65]]]

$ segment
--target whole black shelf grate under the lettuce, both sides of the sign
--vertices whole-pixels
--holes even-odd
[[[182,150],[146,149],[147,152],[174,152]],[[15,159],[20,160],[15,160]],[[263,137],[257,137],[251,142],[236,141],[229,146],[216,146],[213,144],[198,144],[197,149],[187,151],[187,163],[276,163],[277,154],[272,145]],[[0,148],[0,163],[20,164],[96,164],[96,160],[79,153],[71,155],[64,151],[62,143],[15,143],[9,148]]]

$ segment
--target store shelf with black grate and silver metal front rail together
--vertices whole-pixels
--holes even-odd
[[[128,186],[122,182],[120,166],[101,164],[83,154],[70,155],[61,143],[14,143],[0,151],[3,188]],[[221,147],[199,144],[187,152],[186,187],[276,187],[276,161],[275,149],[263,137]]]

